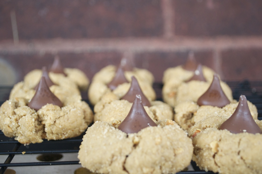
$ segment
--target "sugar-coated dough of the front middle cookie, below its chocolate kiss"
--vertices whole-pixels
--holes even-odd
[[[83,137],[78,158],[96,173],[176,173],[190,164],[192,141],[174,121],[161,120],[134,134],[96,121]]]

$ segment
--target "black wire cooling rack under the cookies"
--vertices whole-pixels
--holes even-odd
[[[247,99],[256,105],[258,109],[258,117],[262,118],[262,82],[247,80],[242,82],[227,82],[233,91],[234,99],[238,100],[240,95],[245,95]],[[155,83],[154,89],[157,93],[158,100],[161,100],[162,84]],[[5,100],[8,100],[9,93],[12,87],[2,86],[0,87],[0,105]],[[88,102],[88,101],[86,101]],[[1,120],[0,120],[1,121]],[[14,138],[4,136],[0,131],[0,158],[1,155],[8,155],[4,163],[0,163],[0,174],[3,174],[7,167],[25,167],[25,166],[52,166],[52,165],[76,165],[79,161],[50,161],[50,162],[26,162],[23,163],[11,163],[15,155],[26,154],[64,154],[64,153],[78,153],[79,146],[82,142],[83,135],[70,138],[66,140],[47,141],[42,143],[30,144],[30,146],[21,145]],[[213,172],[201,171],[195,163],[191,162],[195,171],[183,171],[179,174],[211,174]],[[213,173],[214,174],[214,173]]]

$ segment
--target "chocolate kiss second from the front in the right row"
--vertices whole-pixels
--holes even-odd
[[[198,98],[197,104],[199,106],[210,105],[222,108],[229,103],[230,101],[220,86],[218,75],[214,74],[211,85],[209,86],[208,90]]]

